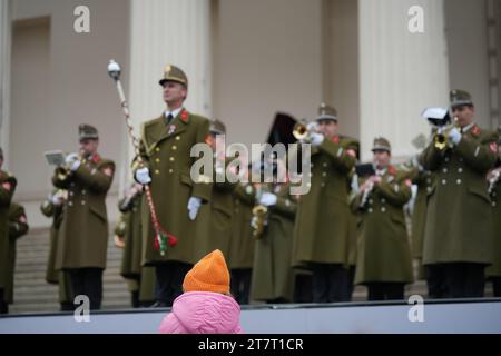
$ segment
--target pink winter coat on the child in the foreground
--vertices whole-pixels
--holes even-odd
[[[161,320],[161,334],[242,334],[240,306],[229,296],[188,291],[174,300]]]

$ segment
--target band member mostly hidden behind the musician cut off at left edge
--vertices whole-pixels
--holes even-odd
[[[28,234],[29,226],[24,207],[12,201],[9,207],[9,270],[8,286],[6,288],[6,303],[13,303],[14,269],[16,269],[16,245],[18,238]]]

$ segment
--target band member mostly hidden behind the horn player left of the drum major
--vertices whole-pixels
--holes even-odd
[[[50,226],[49,258],[46,269],[46,281],[58,285],[59,305],[61,312],[73,310],[71,280],[67,270],[56,269],[56,254],[58,249],[59,230],[63,218],[63,206],[68,199],[68,191],[53,189],[40,205],[40,211],[48,218],[52,218]]]

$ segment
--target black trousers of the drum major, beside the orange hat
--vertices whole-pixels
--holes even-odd
[[[193,265],[180,261],[167,261],[155,266],[155,298],[158,303],[173,306],[174,300],[183,294],[183,281]]]

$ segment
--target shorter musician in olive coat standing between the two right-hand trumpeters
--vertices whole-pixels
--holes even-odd
[[[403,211],[412,182],[390,165],[385,138],[375,138],[372,151],[375,175],[361,181],[351,205],[361,217],[355,284],[367,286],[369,300],[403,299],[405,284],[413,280]]]

